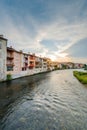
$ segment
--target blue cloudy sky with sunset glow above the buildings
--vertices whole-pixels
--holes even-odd
[[[0,0],[0,34],[17,50],[87,63],[87,0]]]

